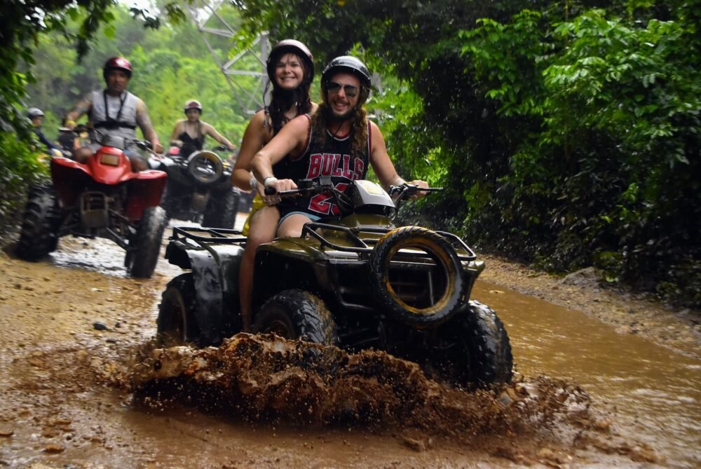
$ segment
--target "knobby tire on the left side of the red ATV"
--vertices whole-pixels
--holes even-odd
[[[22,233],[17,246],[20,259],[36,261],[56,250],[60,208],[55,191],[50,186],[29,189]]]

